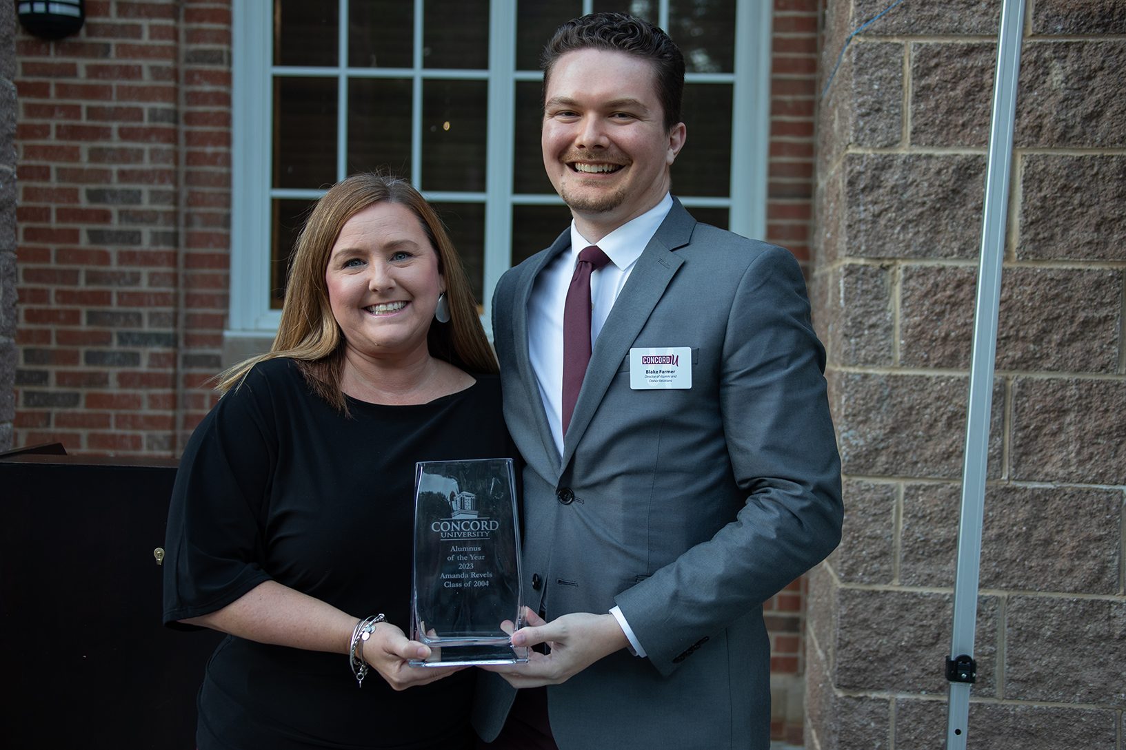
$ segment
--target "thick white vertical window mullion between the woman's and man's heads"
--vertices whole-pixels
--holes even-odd
[[[516,121],[516,0],[489,7],[489,105],[485,152],[484,308],[492,337],[492,290],[508,270],[512,245],[512,163]]]

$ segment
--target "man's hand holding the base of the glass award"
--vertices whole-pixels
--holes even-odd
[[[512,633],[512,645],[533,647],[547,643],[551,653],[528,653],[526,665],[482,667],[498,672],[512,687],[558,685],[618,649],[628,641],[614,615],[577,612],[544,622],[530,609],[525,612],[528,626]]]

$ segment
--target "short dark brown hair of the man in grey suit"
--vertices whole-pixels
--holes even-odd
[[[547,100],[547,79],[555,62],[575,49],[610,49],[650,61],[656,78],[656,96],[664,109],[664,129],[671,130],[680,121],[685,57],[663,30],[625,13],[590,13],[563,24],[555,29],[539,58],[544,71],[544,102]]]

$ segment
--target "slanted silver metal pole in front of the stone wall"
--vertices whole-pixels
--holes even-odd
[[[1017,79],[1025,0],[1004,0],[998,35],[997,75],[993,81],[993,118],[990,125],[985,207],[982,217],[977,300],[974,311],[973,361],[969,367],[969,404],[966,417],[965,466],[962,475],[962,519],[958,527],[958,571],[954,582],[954,632],[947,679],[947,750],[965,750],[969,719],[969,689],[975,678],[974,625],[977,618],[977,581],[981,563],[982,515],[985,506],[985,469],[989,463],[990,412],[993,406],[993,360],[1001,298],[1001,260],[1008,224],[1009,173],[1016,119]]]

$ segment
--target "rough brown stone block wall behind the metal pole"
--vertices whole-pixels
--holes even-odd
[[[826,0],[823,83],[887,0]],[[1000,0],[903,2],[820,100],[816,320],[844,471],[806,742],[941,748]],[[969,744],[1126,748],[1126,6],[1028,2]]]

